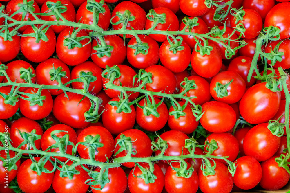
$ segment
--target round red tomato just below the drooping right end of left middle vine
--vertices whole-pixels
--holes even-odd
[[[105,129],[104,127],[100,126],[91,126],[81,131],[79,136],[77,137],[77,143],[79,142],[86,142],[86,136],[91,135],[92,137],[95,137],[96,135],[99,135],[99,143],[102,143],[103,147],[97,147],[95,151],[95,160],[105,162],[107,161],[106,157],[111,157],[113,151],[114,151],[114,139],[110,132]],[[90,141],[87,141],[89,143]],[[77,152],[79,152],[79,155],[81,158],[89,159],[89,149],[87,146],[79,144],[77,146]]]

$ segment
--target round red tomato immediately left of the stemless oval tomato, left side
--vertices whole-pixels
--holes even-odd
[[[32,87],[24,91],[24,93],[33,94],[33,95],[37,92],[38,92],[38,89],[32,88]],[[42,106],[39,104],[35,104],[31,106],[30,101],[23,99],[23,98],[29,98],[29,97],[25,94],[21,95],[22,98],[19,99],[19,108],[20,108],[21,113],[25,117],[36,120],[36,119],[43,119],[44,117],[49,115],[53,107],[53,100],[52,100],[51,94],[48,92],[47,89],[42,89],[40,92],[40,95],[45,97],[45,99],[42,101],[43,102]],[[37,100],[37,98],[35,98],[34,100]]]

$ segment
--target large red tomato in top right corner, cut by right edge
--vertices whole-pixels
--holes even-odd
[[[264,27],[273,25],[280,29],[280,38],[286,39],[290,37],[290,3],[278,3],[267,14]]]

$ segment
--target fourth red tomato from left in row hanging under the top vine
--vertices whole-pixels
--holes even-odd
[[[93,39],[93,45],[91,50],[91,58],[95,64],[97,64],[101,68],[106,68],[106,66],[113,66],[116,64],[122,64],[126,58],[126,45],[124,45],[124,41],[117,35],[112,36],[104,36],[104,41],[106,45],[113,46],[114,49],[111,50],[111,56],[103,56],[99,58],[97,51],[93,49],[94,46],[98,46],[98,42],[101,44],[99,39]]]

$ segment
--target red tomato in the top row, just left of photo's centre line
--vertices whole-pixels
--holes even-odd
[[[126,26],[126,30],[144,30],[145,28],[145,23],[146,23],[146,12],[142,7],[137,5],[136,3],[133,3],[131,1],[123,1],[116,5],[115,9],[112,12],[112,19],[111,22],[113,24],[113,29],[114,30],[119,30],[123,27],[123,23],[119,23],[117,25],[114,25],[114,23],[117,23],[118,21],[124,19],[119,18],[119,16],[116,15],[116,12],[119,12],[119,14],[124,14],[125,11],[128,10],[131,14],[131,16],[135,16],[135,19],[133,21],[128,21],[128,24]],[[128,14],[128,12],[127,12]],[[126,16],[125,18],[129,17],[129,15]],[[121,37],[123,37],[123,34],[120,34]],[[128,35],[126,34],[126,38],[131,38],[133,35]]]

